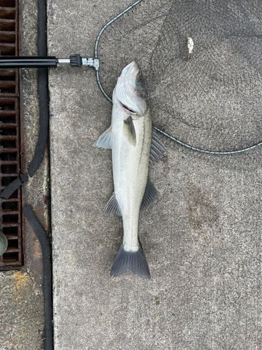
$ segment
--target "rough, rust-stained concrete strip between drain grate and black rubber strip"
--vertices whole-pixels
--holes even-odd
[[[20,1],[22,52],[37,55],[37,1]],[[24,169],[34,157],[38,140],[37,71],[22,69],[20,75],[20,107],[24,114]],[[22,169],[22,172],[24,171]],[[23,204],[30,204],[38,220],[48,232],[49,196],[48,153],[33,178],[22,186]],[[25,220],[25,219],[24,219]],[[0,349],[42,350],[44,346],[43,265],[41,246],[25,221],[24,267],[0,272]]]

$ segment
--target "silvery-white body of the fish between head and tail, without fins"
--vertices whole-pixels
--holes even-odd
[[[133,120],[136,130],[136,146],[123,134],[123,119],[112,111],[112,169],[115,196],[122,213],[124,250],[138,251],[138,218],[140,205],[147,185],[152,118],[150,110],[145,116]]]

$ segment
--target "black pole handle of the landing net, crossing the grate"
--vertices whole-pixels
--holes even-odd
[[[1,56],[1,68],[56,68],[56,57],[14,57]]]

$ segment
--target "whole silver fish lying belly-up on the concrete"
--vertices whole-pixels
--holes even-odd
[[[150,269],[138,237],[138,218],[157,197],[148,172],[150,165],[163,156],[165,145],[153,132],[145,81],[136,61],[125,66],[117,79],[112,94],[111,125],[93,146],[112,149],[115,190],[104,214],[122,216],[124,228],[110,276],[131,271],[142,279],[150,279]]]

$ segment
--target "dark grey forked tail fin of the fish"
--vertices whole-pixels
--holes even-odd
[[[124,274],[124,272],[128,271],[137,274],[141,279],[151,278],[147,259],[140,244],[138,251],[125,251],[124,245],[121,244],[112,264],[110,276],[119,276],[119,274]]]

